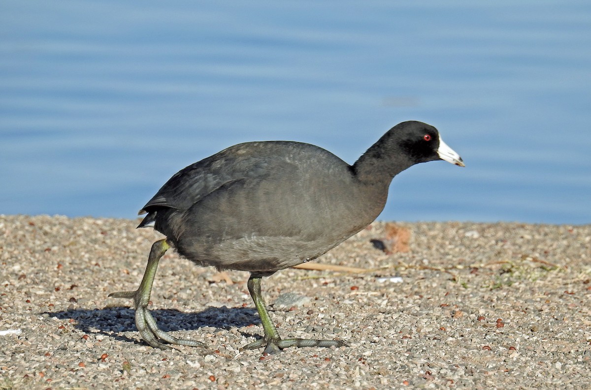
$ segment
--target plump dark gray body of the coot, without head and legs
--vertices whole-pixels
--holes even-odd
[[[199,265],[272,273],[369,225],[388,184],[359,185],[346,162],[314,145],[249,142],[178,172],[144,210]]]

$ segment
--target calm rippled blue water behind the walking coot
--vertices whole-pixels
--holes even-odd
[[[379,219],[591,223],[588,1],[2,1],[0,214],[134,218],[248,140],[348,162],[403,120],[466,168]]]

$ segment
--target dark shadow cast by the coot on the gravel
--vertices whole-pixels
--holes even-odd
[[[176,330],[197,330],[215,327],[229,330],[230,327],[244,327],[260,324],[261,319],[255,309],[249,307],[207,307],[201,312],[183,313],[176,309],[150,310],[158,327],[164,332]],[[137,332],[135,310],[125,306],[105,307],[104,309],[69,309],[60,312],[44,312],[60,320],[73,320],[76,329],[85,333],[99,333],[114,339],[142,343],[125,336],[125,332]],[[209,330],[209,332],[212,332]],[[255,336],[241,332],[244,336]],[[255,336],[256,337],[256,336]]]

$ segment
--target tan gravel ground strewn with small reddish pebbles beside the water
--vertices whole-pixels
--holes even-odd
[[[209,348],[138,339],[131,301],[107,297],[137,288],[160,238],[137,223],[0,215],[0,389],[591,388],[591,225],[402,224],[410,252],[386,254],[375,223],[319,258],[368,272],[262,284],[282,336],[350,347],[262,356],[239,350],[262,332],[248,274],[173,251],[152,313]]]

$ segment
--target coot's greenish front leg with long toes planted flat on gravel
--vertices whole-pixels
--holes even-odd
[[[271,354],[280,352],[281,349],[288,347],[349,346],[347,343],[340,340],[281,339],[281,337],[279,337],[279,333],[277,332],[277,328],[275,328],[275,325],[273,325],[273,322],[271,321],[271,316],[269,316],[265,301],[262,299],[260,276],[254,276],[251,274],[251,277],[248,279],[248,291],[251,293],[252,301],[254,301],[256,310],[261,317],[262,329],[264,330],[265,334],[262,339],[243,346],[241,350],[255,349],[265,346],[266,348],[264,353]]]

